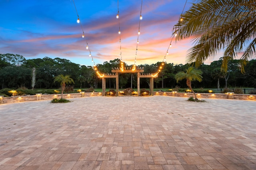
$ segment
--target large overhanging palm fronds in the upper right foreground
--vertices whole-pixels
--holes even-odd
[[[222,70],[228,61],[241,57],[241,72],[256,55],[255,0],[195,0],[174,26],[176,41],[193,37],[194,47],[188,50],[187,62],[200,66],[206,59],[224,50]]]

